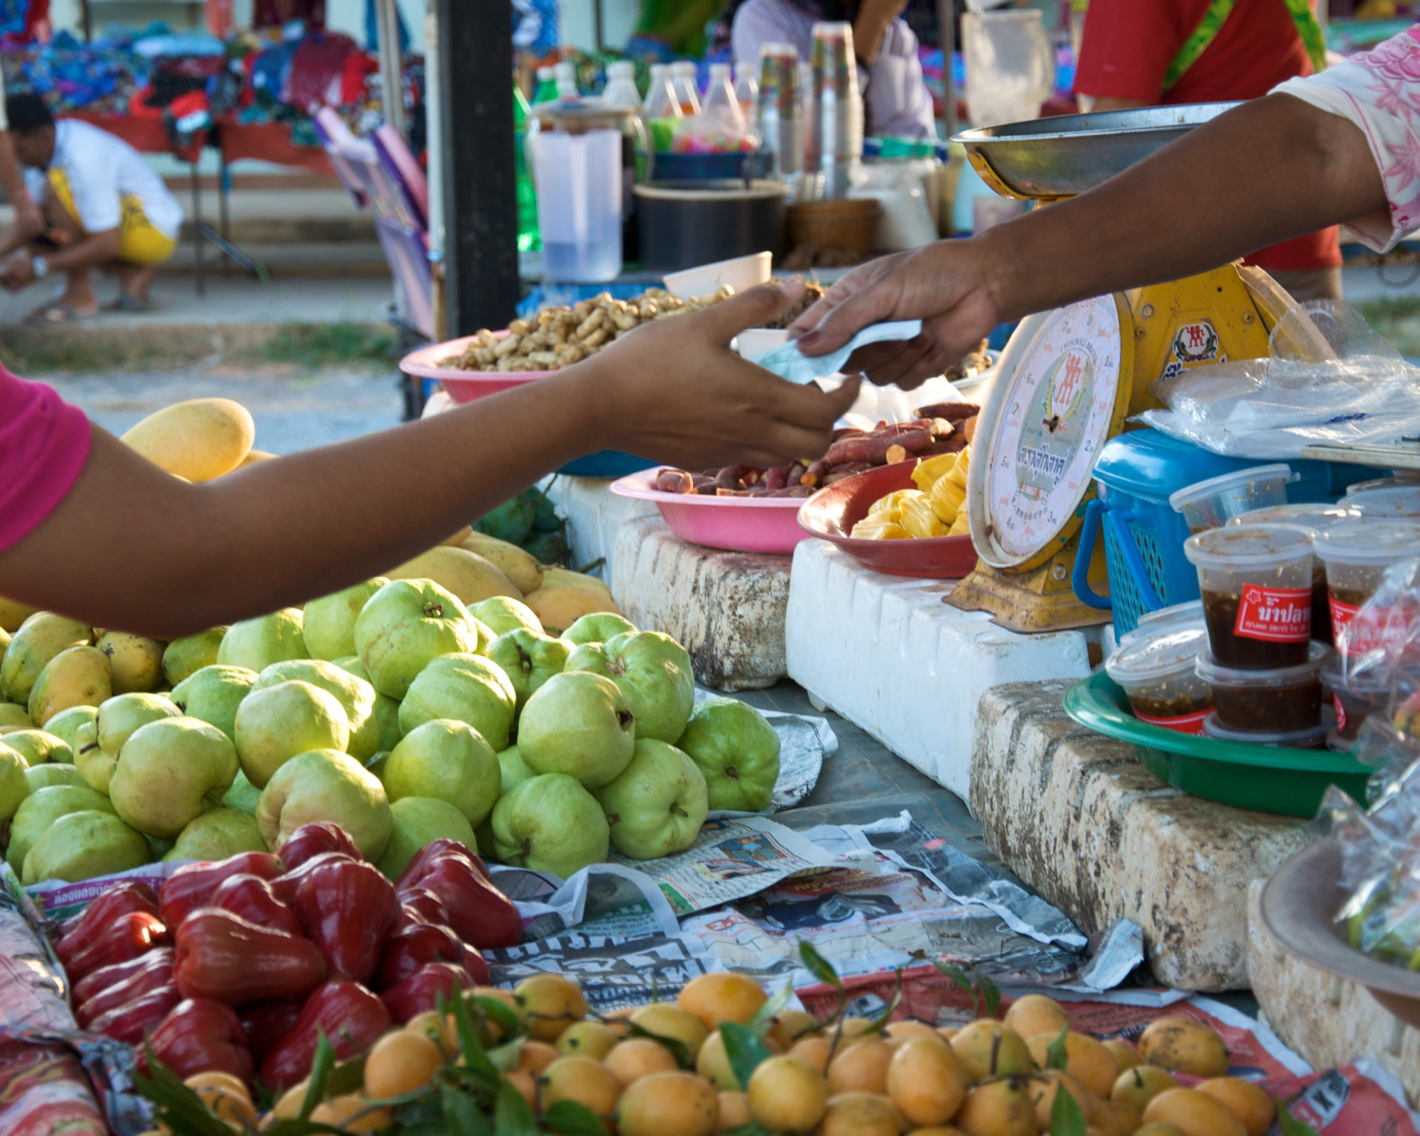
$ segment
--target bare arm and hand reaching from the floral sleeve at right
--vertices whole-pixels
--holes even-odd
[[[1353,124],[1268,95],[1079,197],[855,268],[794,331],[805,354],[822,355],[869,324],[920,318],[916,339],[875,344],[852,361],[873,382],[916,385],[1004,320],[1207,271],[1386,207]]]

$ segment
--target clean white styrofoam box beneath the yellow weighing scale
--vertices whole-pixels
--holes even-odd
[[[943,604],[953,586],[872,572],[828,541],[802,541],[784,636],[790,677],[815,701],[968,799],[981,694],[1085,677],[1100,629],[1018,635]]]

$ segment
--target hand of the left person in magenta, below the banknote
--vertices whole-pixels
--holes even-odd
[[[763,327],[804,294],[798,281],[753,288],[711,308],[643,324],[565,373],[608,446],[682,469],[733,462],[782,466],[822,454],[858,381],[828,395],[746,362],[730,339]]]

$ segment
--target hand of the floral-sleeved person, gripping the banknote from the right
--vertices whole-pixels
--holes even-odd
[[[845,371],[910,390],[976,348],[1000,320],[978,240],[937,241],[853,268],[790,327],[805,355],[826,355],[870,324],[922,320],[913,339],[869,344]]]

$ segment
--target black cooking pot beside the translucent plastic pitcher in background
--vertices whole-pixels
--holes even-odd
[[[777,182],[645,182],[632,192],[648,268],[674,273],[765,248],[784,256],[785,187]]]

